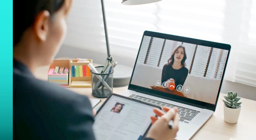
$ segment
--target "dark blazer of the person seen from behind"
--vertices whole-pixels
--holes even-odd
[[[36,79],[13,60],[13,138],[94,140],[87,96]]]

